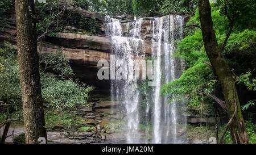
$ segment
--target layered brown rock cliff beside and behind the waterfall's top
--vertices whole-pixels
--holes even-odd
[[[38,52],[40,55],[54,53],[62,50],[63,53],[71,58],[71,66],[77,78],[82,82],[96,86],[98,90],[105,90],[109,93],[109,81],[100,81],[97,78],[97,62],[101,59],[109,60],[112,45],[111,37],[104,35],[106,31],[105,15],[90,12],[82,9],[73,10],[88,18],[96,19],[100,24],[102,35],[89,35],[77,31],[75,27],[69,27],[75,30],[75,33],[56,33],[55,36],[46,36],[38,42]],[[144,40],[146,55],[151,55],[152,27],[150,18],[144,18],[141,26],[141,39]],[[119,18],[124,35],[131,30],[131,24],[134,20]],[[3,41],[16,43],[16,23],[15,14],[10,14],[7,19],[5,31],[0,33],[0,44]]]

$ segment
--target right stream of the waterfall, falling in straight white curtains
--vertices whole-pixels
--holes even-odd
[[[160,96],[160,89],[181,74],[181,61],[173,55],[176,50],[175,40],[182,38],[182,27],[181,15],[167,15],[152,22],[152,56],[157,60],[153,143],[181,143],[177,141],[177,103],[175,100],[169,103],[167,97]]]

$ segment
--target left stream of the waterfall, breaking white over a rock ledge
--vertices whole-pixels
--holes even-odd
[[[139,143],[139,91],[137,79],[134,78],[135,58],[143,56],[144,41],[141,39],[142,19],[131,23],[134,26],[127,36],[123,36],[121,23],[118,20],[106,17],[107,34],[111,36],[112,53],[115,55],[115,71],[122,73],[127,79],[116,79],[111,82],[112,100],[122,102],[127,115],[127,143]],[[130,26],[128,26],[130,27]],[[127,65],[127,66],[126,66]]]

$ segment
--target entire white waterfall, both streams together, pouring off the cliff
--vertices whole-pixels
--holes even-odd
[[[106,35],[111,36],[112,54],[115,56],[115,76],[122,73],[122,78],[111,82],[112,101],[121,102],[126,112],[127,143],[183,143],[177,137],[177,122],[185,122],[180,115],[180,105],[176,101],[169,103],[167,97],[160,95],[161,87],[181,75],[181,61],[172,57],[176,50],[175,40],[182,38],[183,16],[167,15],[151,20],[152,57],[156,60],[155,86],[152,92],[140,92],[138,80],[134,77],[135,59],[145,58],[144,41],[141,39],[142,19],[128,22],[127,33],[122,32],[122,24],[117,19],[106,16]],[[142,98],[146,102],[144,112],[139,111]],[[152,106],[151,106],[152,105]],[[179,116],[178,116],[179,115]],[[146,136],[139,132],[139,124],[148,125]],[[183,122],[181,121],[183,120]],[[152,131],[149,126],[152,124]]]

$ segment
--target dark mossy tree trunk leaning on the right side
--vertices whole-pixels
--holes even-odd
[[[230,124],[233,143],[249,143],[232,72],[222,55],[213,30],[213,22],[208,0],[199,0],[199,17],[205,51],[207,52],[210,64],[213,66],[214,74],[216,74],[221,83],[226,106],[228,108],[229,119],[233,118]]]

